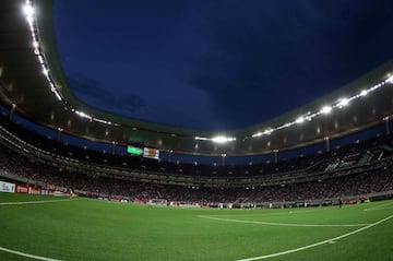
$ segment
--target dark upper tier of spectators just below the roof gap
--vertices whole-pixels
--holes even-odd
[[[338,167],[348,164],[349,158],[356,161],[354,164],[361,162],[366,154],[371,154],[373,158],[390,156],[393,152],[393,135],[379,135],[362,142],[352,143],[342,147],[336,147],[330,152],[319,152],[309,155],[301,155],[288,159],[282,159],[277,163],[253,163],[241,165],[207,165],[193,163],[179,163],[156,161],[130,155],[114,155],[105,151],[94,151],[87,147],[74,146],[41,137],[21,126],[9,121],[4,116],[0,116],[1,124],[22,140],[39,147],[44,151],[55,153],[81,162],[94,163],[97,165],[135,169],[142,171],[154,171],[157,174],[175,174],[188,176],[216,176],[216,177],[239,177],[239,176],[261,176],[282,174],[308,169],[309,171],[329,170],[329,166],[342,162]],[[354,159],[355,158],[355,159]],[[369,158],[371,159],[371,157]]]

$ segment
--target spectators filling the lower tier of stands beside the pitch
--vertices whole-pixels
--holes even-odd
[[[372,171],[309,182],[269,187],[207,188],[144,183],[70,173],[32,162],[3,146],[0,151],[0,171],[25,177],[33,185],[45,183],[55,188],[72,188],[87,195],[124,198],[139,202],[146,202],[148,199],[165,199],[177,202],[198,202],[203,205],[237,202],[239,199],[255,203],[307,201],[393,190],[391,165],[380,166]]]

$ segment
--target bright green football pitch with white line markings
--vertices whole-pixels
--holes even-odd
[[[393,260],[393,201],[215,210],[0,193],[0,260]]]

